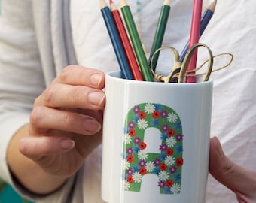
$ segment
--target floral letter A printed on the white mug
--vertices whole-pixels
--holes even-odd
[[[146,153],[145,130],[157,128],[160,153]],[[126,116],[123,135],[123,189],[139,192],[142,177],[155,174],[160,194],[181,192],[182,126],[172,108],[160,104],[135,105]]]

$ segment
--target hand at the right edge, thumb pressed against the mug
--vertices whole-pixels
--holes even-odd
[[[216,137],[211,138],[209,172],[236,194],[239,203],[256,202],[256,172],[228,159]]]

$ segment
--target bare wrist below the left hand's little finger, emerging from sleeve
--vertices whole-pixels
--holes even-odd
[[[23,126],[14,135],[8,146],[7,159],[11,173],[30,192],[39,195],[53,192],[65,183],[66,178],[47,174],[35,162],[20,153],[19,141],[27,135],[29,135],[28,125]]]

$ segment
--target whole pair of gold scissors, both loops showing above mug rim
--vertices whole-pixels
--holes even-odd
[[[160,47],[159,49],[157,49],[155,51],[155,53],[153,54],[153,56],[151,58],[151,63],[150,63],[151,64],[151,72],[154,75],[157,82],[169,83],[169,82],[171,82],[171,80],[174,80],[175,78],[178,77],[178,83],[183,83],[185,76],[191,76],[191,77],[196,76],[196,74],[187,74],[186,75],[186,72],[187,72],[187,66],[190,62],[191,57],[193,56],[195,50],[197,50],[199,47],[205,47],[209,53],[208,68],[207,68],[205,77],[203,78],[203,82],[209,80],[210,74],[212,73],[214,56],[212,55],[212,50],[206,44],[197,43],[197,44],[194,44],[192,47],[190,47],[190,49],[187,51],[183,62],[179,61],[178,50],[176,50],[174,47]],[[156,56],[157,53],[159,53],[161,50],[164,50],[164,49],[170,50],[172,52],[172,56],[173,56],[172,71],[167,76],[163,76],[163,74],[159,74],[159,73],[156,74],[152,68],[154,56]],[[195,70],[192,70],[192,71],[195,71]]]

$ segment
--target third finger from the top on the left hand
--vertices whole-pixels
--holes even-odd
[[[93,135],[101,129],[100,123],[93,117],[54,108],[38,106],[30,115],[33,129],[59,129],[82,135]]]

